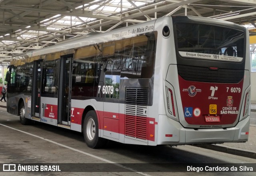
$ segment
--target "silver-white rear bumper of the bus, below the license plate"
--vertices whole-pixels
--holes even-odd
[[[218,144],[248,141],[250,116],[232,128],[184,128],[179,122],[164,115],[160,115],[158,120],[158,145]]]

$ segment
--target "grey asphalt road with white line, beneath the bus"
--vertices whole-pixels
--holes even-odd
[[[42,165],[52,164],[61,170],[0,172],[4,176],[255,176],[256,172],[255,159],[195,146],[137,146],[110,141],[105,148],[91,149],[79,132],[42,123],[23,126],[19,117],[8,114],[5,108],[0,108],[0,149],[0,169],[3,164],[14,163],[34,164],[39,170]],[[228,168],[229,172],[187,172],[192,168],[205,171],[217,166]],[[235,172],[232,167],[238,171],[252,167],[254,172]]]

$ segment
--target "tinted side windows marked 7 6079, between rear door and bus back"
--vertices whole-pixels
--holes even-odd
[[[154,33],[78,48],[74,54],[74,96],[119,98],[122,79],[151,78],[154,72]]]

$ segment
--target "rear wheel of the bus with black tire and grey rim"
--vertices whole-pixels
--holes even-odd
[[[99,125],[96,112],[89,111],[84,118],[84,140],[90,148],[102,148],[107,140],[99,137]]]

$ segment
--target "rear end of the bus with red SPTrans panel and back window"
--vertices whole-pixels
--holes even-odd
[[[209,18],[173,16],[171,23],[174,43],[169,46],[175,46],[175,57],[166,58],[164,76],[169,120],[159,118],[164,126],[160,135],[171,137],[159,139],[158,144],[247,141],[248,32],[240,25]]]

